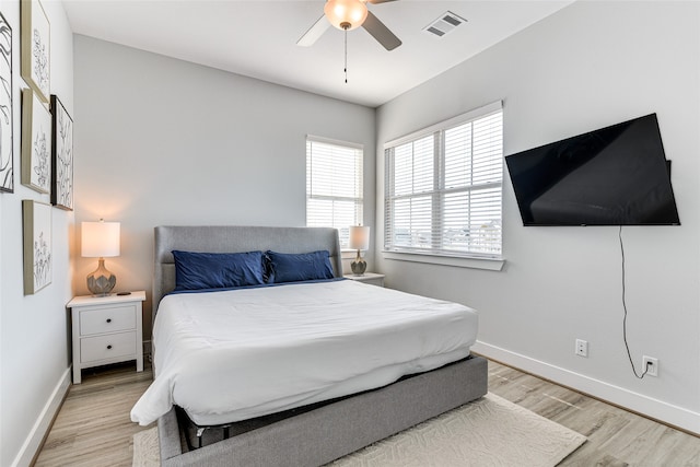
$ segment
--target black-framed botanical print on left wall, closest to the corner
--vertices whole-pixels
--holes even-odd
[[[73,210],[73,119],[51,94],[51,205]]]

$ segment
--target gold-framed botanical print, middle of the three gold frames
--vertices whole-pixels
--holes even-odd
[[[22,185],[51,188],[51,114],[31,89],[22,90]]]

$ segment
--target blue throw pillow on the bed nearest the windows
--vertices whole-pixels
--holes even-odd
[[[266,252],[266,257],[269,264],[268,283],[334,278],[327,250],[300,254]]]

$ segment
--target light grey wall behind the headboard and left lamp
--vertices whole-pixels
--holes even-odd
[[[121,222],[106,266],[147,290],[147,339],[154,226],[304,225],[307,133],[364,144],[374,199],[372,108],[75,36],[74,118],[75,221]],[[79,293],[95,267],[77,258]]]

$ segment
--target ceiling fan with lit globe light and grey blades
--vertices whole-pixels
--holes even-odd
[[[351,31],[362,26],[385,49],[394,50],[401,45],[401,40],[368,10],[365,4],[368,1],[377,4],[394,0],[327,0],[324,14],[304,33],[296,45],[304,47],[314,45],[330,25],[341,31]]]

